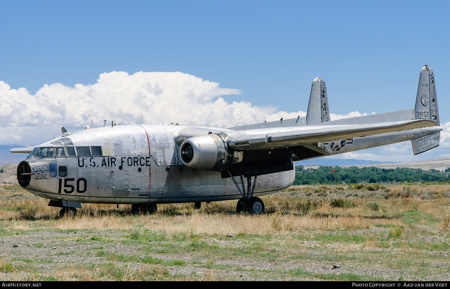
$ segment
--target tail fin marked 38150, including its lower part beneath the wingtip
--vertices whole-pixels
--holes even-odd
[[[434,74],[428,65],[425,65],[420,71],[414,113],[416,120],[434,120],[437,122],[437,125],[440,125]],[[413,139],[411,144],[413,146],[414,155],[439,146],[440,135],[441,133],[433,133],[431,135]]]

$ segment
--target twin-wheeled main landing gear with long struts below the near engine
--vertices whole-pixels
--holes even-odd
[[[247,193],[246,193],[245,187],[244,187],[243,175],[240,176],[241,182],[238,183],[238,182],[236,182],[234,177],[231,175],[231,173],[230,172],[228,172],[228,173],[229,173],[229,176],[231,177],[231,179],[233,180],[234,184],[238,188],[239,192],[243,196],[242,199],[238,200],[238,204],[236,205],[236,211],[238,213],[241,213],[241,212],[249,212],[249,213],[254,213],[254,214],[264,213],[263,201],[260,198],[253,196],[253,192],[255,191],[255,185],[256,185],[256,182],[257,182],[256,180],[257,180],[258,176],[255,176],[255,178],[253,178],[253,186],[252,186],[252,177],[247,178]],[[242,190],[239,187],[239,184],[241,184]]]

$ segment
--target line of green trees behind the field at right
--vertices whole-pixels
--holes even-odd
[[[304,169],[302,165],[295,167],[294,185],[334,184],[336,183],[374,183],[374,182],[450,182],[450,168],[445,172],[437,169],[380,169],[369,168],[341,168],[321,166],[317,169]],[[331,173],[335,170],[336,172]]]

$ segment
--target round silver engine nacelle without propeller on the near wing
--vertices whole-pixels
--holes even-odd
[[[193,169],[224,171],[242,161],[243,152],[230,149],[217,134],[186,139],[180,146],[181,161]]]

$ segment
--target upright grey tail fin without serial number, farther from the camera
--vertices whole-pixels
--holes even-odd
[[[306,125],[319,124],[329,120],[327,88],[324,80],[316,77],[311,85],[308,111],[306,112]]]

